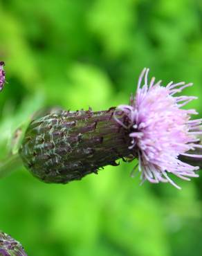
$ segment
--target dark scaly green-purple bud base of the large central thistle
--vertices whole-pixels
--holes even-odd
[[[46,183],[68,183],[135,156],[128,131],[113,118],[114,110],[57,111],[33,120],[19,150],[24,164]]]

